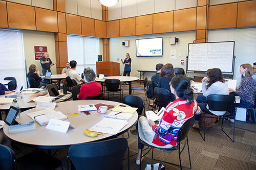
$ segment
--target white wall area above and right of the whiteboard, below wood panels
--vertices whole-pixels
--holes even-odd
[[[235,41],[234,42],[234,77],[237,86],[240,84],[239,68],[241,64],[256,62],[256,28],[210,30],[209,42]]]

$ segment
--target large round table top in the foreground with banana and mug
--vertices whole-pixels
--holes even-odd
[[[67,133],[61,133],[46,129],[41,127],[36,123],[36,129],[12,133],[9,134],[9,126],[4,126],[4,133],[12,141],[16,141],[22,145],[28,145],[29,147],[35,148],[45,148],[45,149],[56,149],[56,148],[68,148],[72,144],[92,142],[100,139],[108,139],[115,137],[115,135],[104,134],[98,135],[97,137],[89,137],[84,134],[85,129],[90,129],[96,123],[98,123],[106,114],[110,112],[108,110],[106,114],[98,113],[97,111],[90,111],[91,115],[86,115],[84,113],[79,113],[79,115],[72,115],[72,113],[78,112],[78,105],[89,105],[104,103],[108,105],[118,106],[122,103],[112,102],[112,101],[99,101],[99,100],[84,100],[84,101],[69,101],[58,103],[55,111],[61,111],[63,114],[67,115],[69,122],[75,127],[75,129],[70,128]],[[122,104],[124,105],[124,104]],[[30,109],[20,113],[20,117],[16,118],[18,123],[31,122],[32,119],[26,115],[26,113],[31,113],[33,111],[38,111],[39,109]],[[120,135],[134,126],[137,122],[138,114],[135,112],[135,116],[129,121],[129,125],[126,125],[117,135]]]

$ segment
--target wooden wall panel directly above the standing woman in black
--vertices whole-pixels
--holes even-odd
[[[120,19],[120,37],[135,35],[135,17]]]

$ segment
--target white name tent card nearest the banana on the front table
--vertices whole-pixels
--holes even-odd
[[[74,128],[70,122],[51,118],[46,129],[67,133],[69,127]]]

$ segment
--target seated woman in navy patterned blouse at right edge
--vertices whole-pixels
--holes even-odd
[[[229,91],[235,92],[240,96],[240,103],[237,103],[236,106],[243,108],[254,108],[255,105],[255,82],[252,76],[252,67],[250,64],[240,65],[240,74],[244,76],[242,79],[239,88],[232,89]],[[232,108],[232,115],[234,114],[234,107]],[[231,122],[234,122],[234,119],[230,119]]]

